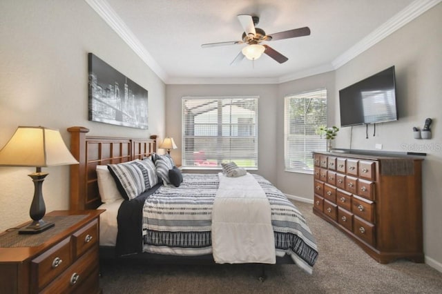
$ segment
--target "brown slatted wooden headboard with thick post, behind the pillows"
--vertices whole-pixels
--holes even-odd
[[[99,197],[97,165],[119,164],[148,157],[156,152],[156,136],[151,139],[93,137],[88,128],[73,126],[70,132],[70,152],[79,164],[70,166],[70,210],[95,209]]]

